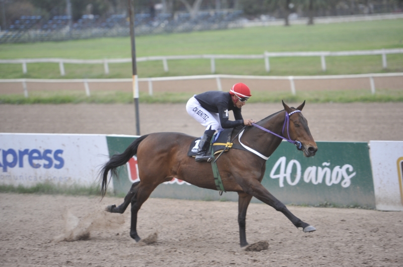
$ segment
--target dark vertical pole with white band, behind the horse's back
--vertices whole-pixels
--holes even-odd
[[[129,4],[129,17],[130,17],[131,67],[133,71],[133,98],[135,100],[136,135],[140,136],[139,80],[137,78],[136,43],[135,43],[135,8],[132,0],[127,1]]]

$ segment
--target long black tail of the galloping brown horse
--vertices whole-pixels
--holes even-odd
[[[141,136],[136,139],[126,148],[126,150],[122,154],[113,155],[110,160],[102,167],[100,171],[102,197],[105,196],[106,188],[108,187],[108,184],[110,182],[110,179],[108,181],[108,172],[110,171],[111,177],[115,176],[116,179],[118,179],[119,176],[117,172],[117,167],[127,163],[131,159],[131,157],[137,154],[137,149],[139,148],[140,143],[144,139],[146,139],[146,137],[148,137],[148,135]]]

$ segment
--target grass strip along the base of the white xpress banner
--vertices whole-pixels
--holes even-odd
[[[37,193],[37,194],[67,194],[67,195],[101,195],[99,186],[57,185],[50,182],[37,183],[33,186],[0,185],[0,193]],[[108,194],[109,195],[109,194]]]

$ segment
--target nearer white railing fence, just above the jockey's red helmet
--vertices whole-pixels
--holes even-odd
[[[217,90],[222,91],[221,79],[248,79],[248,80],[288,80],[290,82],[290,91],[296,95],[297,88],[294,81],[296,80],[331,80],[331,79],[362,79],[367,78],[372,94],[375,94],[374,78],[377,77],[403,77],[403,73],[372,73],[372,74],[356,74],[356,75],[325,75],[325,76],[242,76],[242,75],[198,75],[198,76],[176,76],[176,77],[155,77],[140,78],[139,82],[148,83],[149,95],[153,95],[153,82],[161,81],[183,81],[183,80],[203,80],[216,79]],[[132,79],[3,79],[1,83],[22,83],[25,97],[28,97],[27,83],[83,83],[87,96],[90,96],[91,83],[121,83],[132,82]]]

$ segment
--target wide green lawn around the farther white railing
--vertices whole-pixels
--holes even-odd
[[[342,51],[403,47],[403,19],[291,27],[270,26],[161,34],[136,37],[137,56],[191,54],[262,54],[266,51]],[[130,39],[101,38],[63,42],[0,45],[0,58],[123,58],[130,57]],[[387,56],[388,69],[382,69],[381,56],[327,57],[327,71],[321,71],[319,57],[271,58],[269,75],[333,75],[402,72],[403,54]],[[210,74],[210,60],[169,60],[165,73],[161,61],[138,63],[139,77]],[[0,64],[0,79],[62,78],[56,63]],[[131,64],[65,64],[64,78],[130,78]],[[216,60],[216,73],[267,75],[261,60]]]

